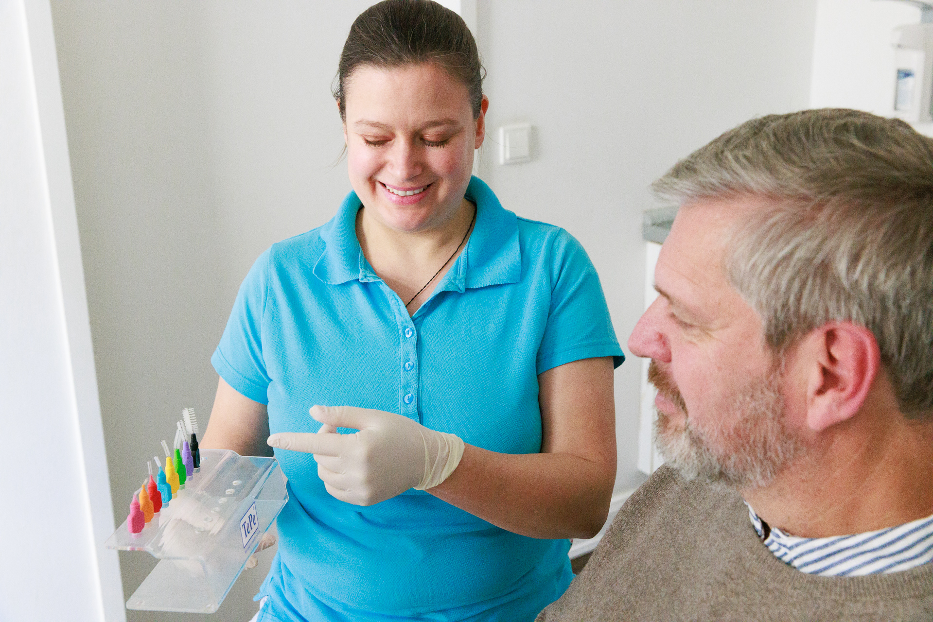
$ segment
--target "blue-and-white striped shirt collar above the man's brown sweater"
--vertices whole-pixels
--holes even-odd
[[[862,576],[897,573],[933,561],[933,516],[877,532],[801,538],[768,525],[748,506],[748,518],[778,560],[801,573]]]

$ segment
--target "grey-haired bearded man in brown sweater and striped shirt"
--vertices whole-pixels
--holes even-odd
[[[667,465],[538,619],[933,619],[933,139],[762,117],[654,189]]]

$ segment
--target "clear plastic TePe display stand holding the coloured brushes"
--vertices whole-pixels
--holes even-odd
[[[124,522],[104,543],[160,560],[127,608],[216,612],[286,501],[285,476],[274,458],[201,449],[200,472],[168,507],[142,532],[130,533]]]

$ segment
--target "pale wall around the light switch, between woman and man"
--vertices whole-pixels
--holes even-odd
[[[641,212],[676,159],[756,115],[807,107],[815,0],[480,0],[490,129],[535,126],[534,159],[482,176],[518,214],[566,228],[602,278],[629,356],[616,372],[619,475],[637,485]],[[490,136],[494,138],[494,134]]]

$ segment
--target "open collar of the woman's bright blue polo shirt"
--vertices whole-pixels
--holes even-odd
[[[476,225],[466,242],[446,283],[439,290],[518,283],[522,278],[522,253],[519,246],[518,217],[502,207],[493,190],[479,177],[472,177],[466,187],[466,200],[477,206]],[[373,281],[356,239],[356,213],[362,202],[351,191],[341,203],[337,214],[320,230],[324,252],[314,264],[314,276],[336,285],[352,280]]]

